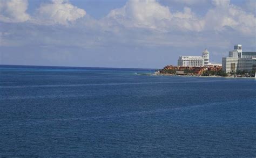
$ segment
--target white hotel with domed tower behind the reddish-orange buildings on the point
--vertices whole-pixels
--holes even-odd
[[[204,67],[204,66],[221,66],[221,63],[209,62],[210,53],[204,50],[202,56],[179,56],[178,66],[183,67]]]

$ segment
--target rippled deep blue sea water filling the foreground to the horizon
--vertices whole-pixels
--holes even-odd
[[[256,156],[256,80],[139,73],[0,66],[0,157]]]

